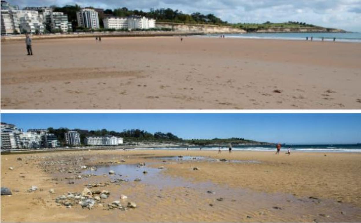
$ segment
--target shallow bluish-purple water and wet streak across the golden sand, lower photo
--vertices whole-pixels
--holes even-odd
[[[178,156],[169,157],[151,157],[162,160],[187,160],[192,162],[193,156]],[[206,160],[206,157],[199,156],[196,160]],[[242,161],[242,160],[239,160]],[[295,219],[303,219],[305,221],[313,220],[316,222],[357,222],[360,220],[361,209],[349,204],[339,203],[331,199],[318,199],[308,197],[296,197],[292,194],[286,193],[263,193],[255,192],[243,188],[231,188],[227,185],[218,185],[210,181],[207,182],[192,182],[183,179],[182,177],[168,176],[164,174],[164,169],[151,166],[162,166],[164,162],[149,162],[146,166],[139,166],[138,164],[118,164],[113,166],[100,166],[95,171],[86,170],[83,174],[107,175],[110,180],[117,179],[126,180],[129,183],[121,184],[122,188],[137,184],[145,184],[146,194],[161,194],[166,193],[166,189],[173,191],[177,189],[178,195],[174,194],[174,199],[179,196],[179,193],[185,193],[184,196],[189,195],[193,191],[193,197],[187,198],[197,202],[197,205],[206,205],[210,211],[215,206],[221,209],[226,208],[227,211],[237,213],[242,210],[243,213],[253,213],[255,218],[264,218],[263,215],[276,215],[277,219],[281,218],[284,221],[292,221]],[[115,174],[109,174],[109,171],[115,171]],[[143,171],[147,173],[144,174]],[[195,171],[190,168],[190,171]],[[196,171],[195,171],[196,174]],[[133,182],[136,178],[140,179],[139,182]],[[117,195],[118,196],[118,195]],[[139,194],[133,194],[134,199],[141,199]],[[164,195],[158,197],[161,199]],[[172,196],[168,194],[168,197]],[[195,196],[195,197],[194,197]],[[221,201],[217,200],[222,198]],[[186,198],[184,198],[186,199]],[[203,204],[204,203],[204,204]],[[212,204],[213,207],[209,206]],[[143,203],[144,206],[150,205],[152,208],[152,201]],[[184,207],[183,207],[184,208]],[[189,207],[192,209],[192,207]],[[257,213],[257,215],[255,215]],[[347,213],[347,214],[345,214]]]

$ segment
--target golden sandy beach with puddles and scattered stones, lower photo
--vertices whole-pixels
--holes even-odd
[[[1,186],[13,193],[1,196],[1,221],[360,222],[360,160],[358,153],[287,156],[284,151],[278,156],[184,150],[1,155]],[[109,175],[110,170],[115,174]],[[31,186],[38,189],[28,191]],[[86,186],[94,193],[107,190],[110,196],[90,210],[73,198],[56,202]],[[127,199],[120,199],[121,194]],[[137,206],[110,208],[113,201]]]

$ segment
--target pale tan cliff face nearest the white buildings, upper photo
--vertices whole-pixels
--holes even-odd
[[[246,33],[243,29],[235,29],[229,26],[157,23],[157,28],[168,28],[179,32],[201,32],[201,33]]]

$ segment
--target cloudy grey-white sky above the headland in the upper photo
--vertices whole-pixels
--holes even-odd
[[[236,22],[302,21],[314,25],[361,31],[361,0],[8,0],[10,4],[49,6],[78,4],[82,7],[149,10],[172,8],[184,13],[213,13]]]

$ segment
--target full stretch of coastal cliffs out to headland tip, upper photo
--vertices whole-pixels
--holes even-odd
[[[337,33],[345,32],[342,29],[314,27],[272,27],[267,29],[239,29],[232,26],[188,24],[173,22],[157,22],[157,28],[168,28],[179,32],[197,33]]]

